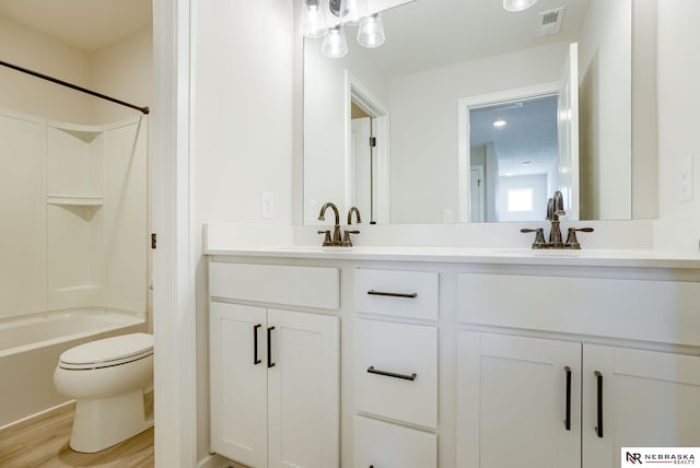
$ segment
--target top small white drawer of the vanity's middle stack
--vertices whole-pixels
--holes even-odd
[[[438,318],[438,273],[431,271],[354,270],[358,312],[396,317]]]

